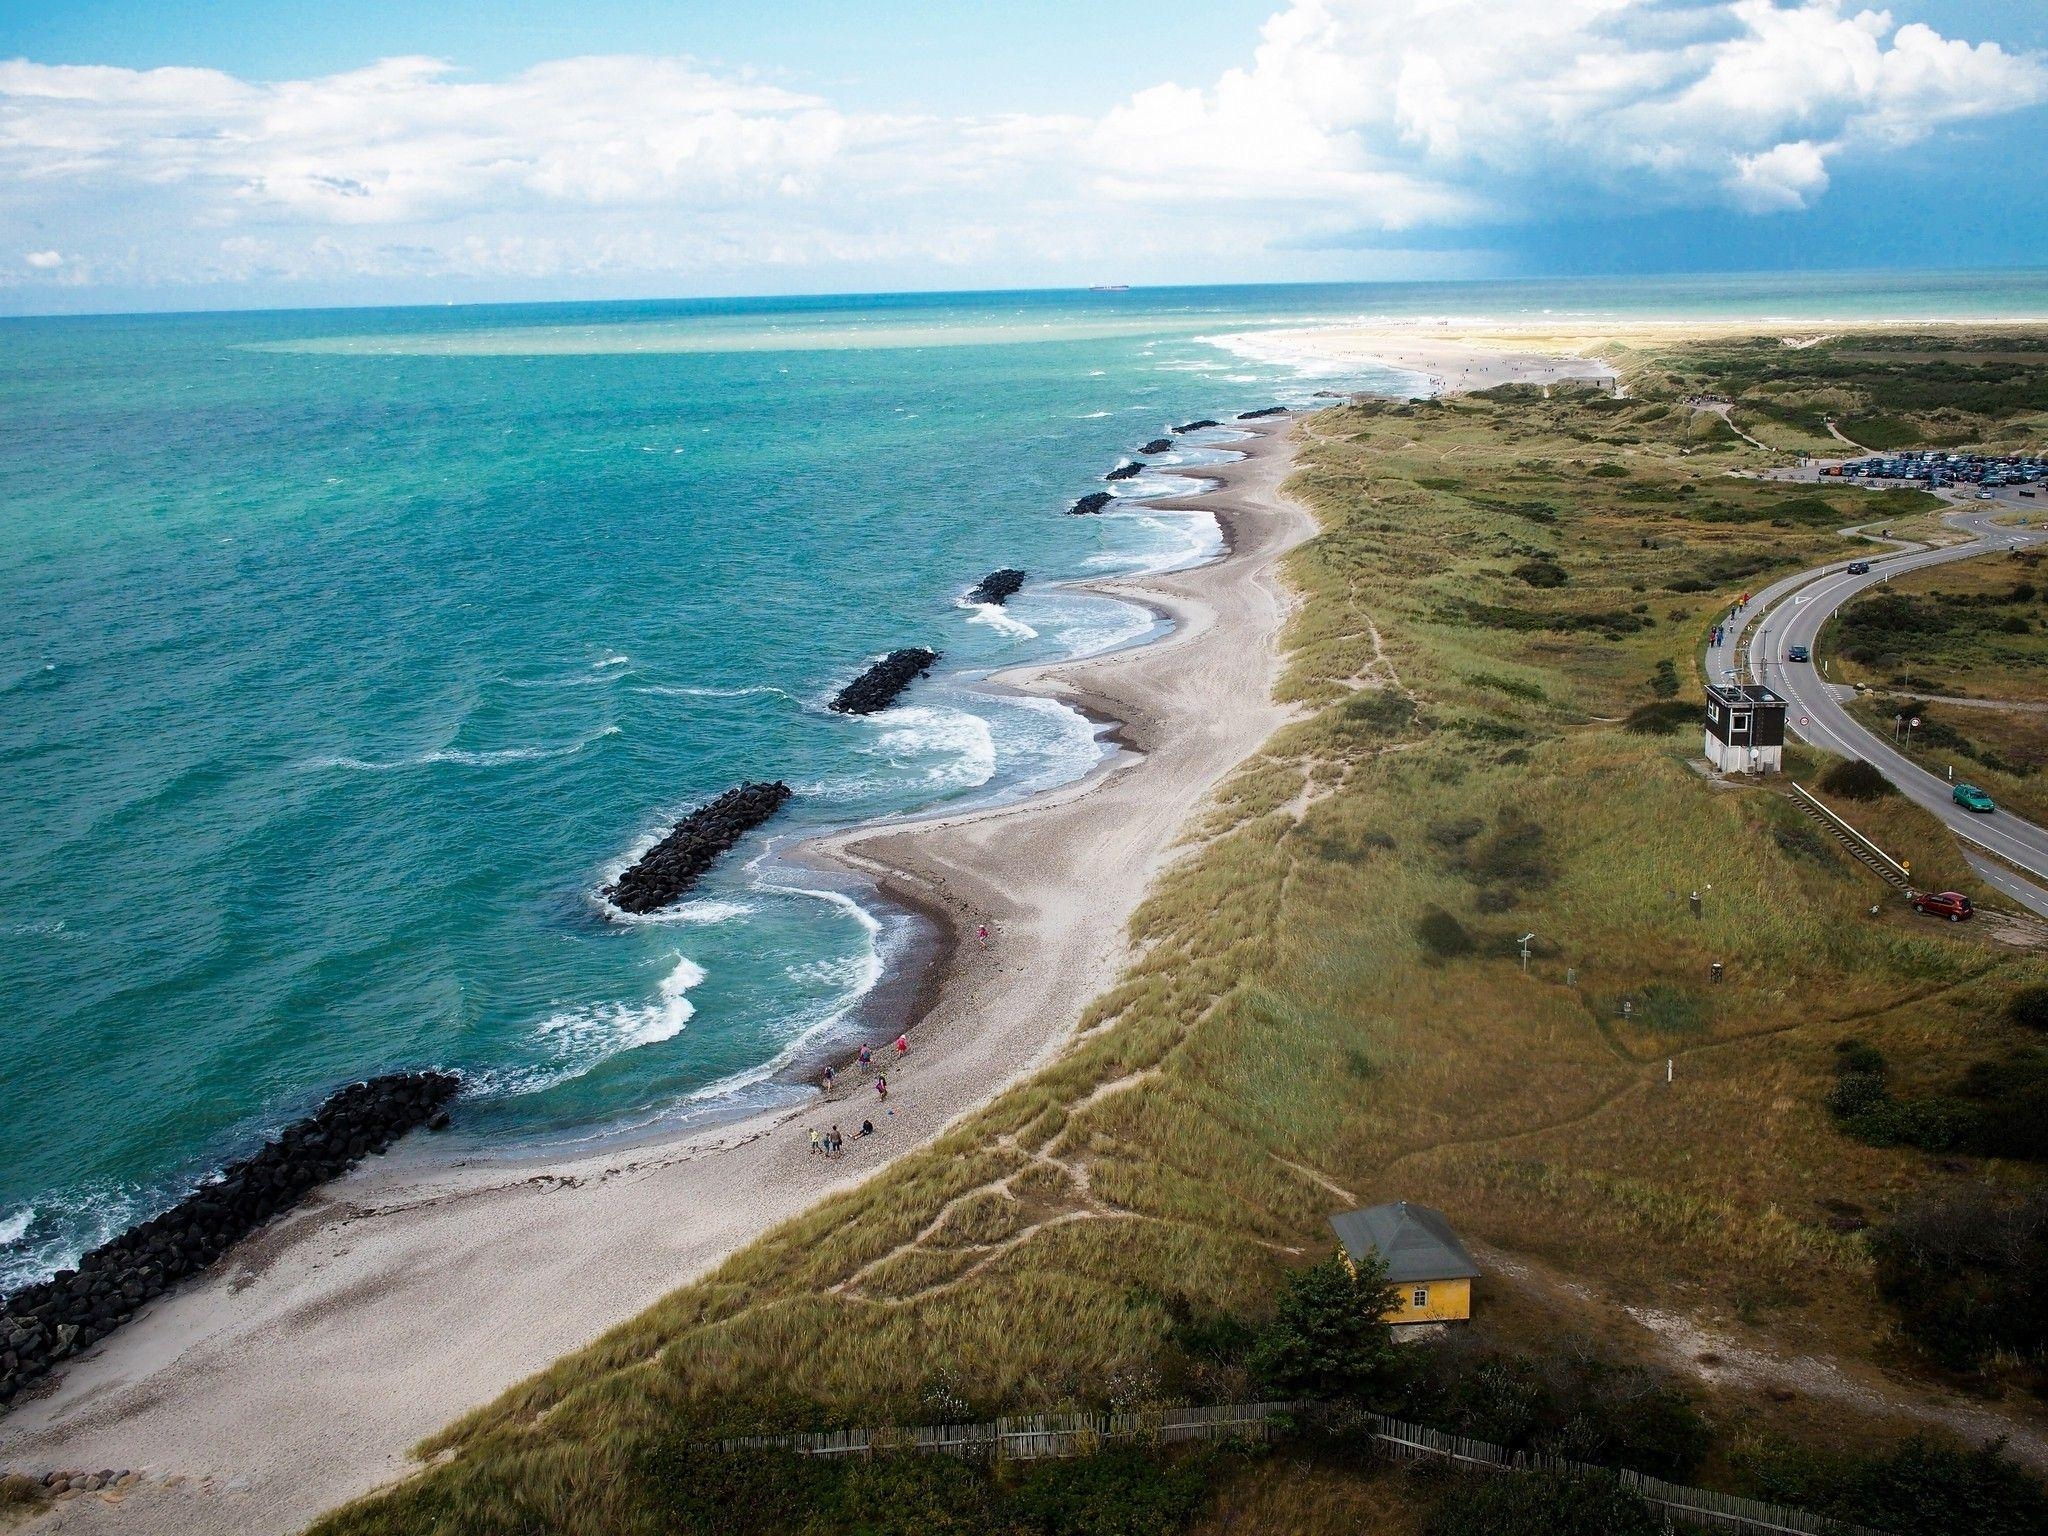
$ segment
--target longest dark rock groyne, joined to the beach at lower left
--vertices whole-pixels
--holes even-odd
[[[162,1217],[78,1260],[76,1270],[0,1298],[0,1407],[59,1362],[98,1343],[147,1303],[199,1274],[315,1186],[416,1126],[449,1122],[455,1073],[371,1077],[332,1094],[252,1157],[223,1167]]]

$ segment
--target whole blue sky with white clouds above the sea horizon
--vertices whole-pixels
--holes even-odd
[[[2048,266],[2036,0],[0,0],[0,311]]]

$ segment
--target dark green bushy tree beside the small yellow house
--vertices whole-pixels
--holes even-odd
[[[1296,1270],[1251,1350],[1251,1372],[1290,1397],[1364,1397],[1393,1372],[1386,1313],[1399,1305],[1376,1255]]]

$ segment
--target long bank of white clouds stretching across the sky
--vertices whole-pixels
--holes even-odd
[[[1800,209],[1843,160],[2044,98],[2034,55],[1841,0],[1294,0],[1243,68],[1100,119],[893,117],[668,57],[276,84],[14,59],[0,229],[63,256],[0,283],[1255,260],[1614,203]]]

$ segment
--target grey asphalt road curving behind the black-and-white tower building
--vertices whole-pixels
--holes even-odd
[[[1970,866],[1987,885],[2048,918],[2048,831],[2032,821],[2021,821],[2011,811],[1993,811],[1991,815],[1964,811],[1950,799],[1948,780],[1927,772],[1849,719],[1837,688],[1825,682],[1812,666],[1784,659],[1792,645],[1810,649],[1821,627],[1843,602],[1878,586],[1886,575],[2048,543],[2048,528],[1999,528],[1991,522],[1993,516],[2005,516],[2013,510],[2011,502],[1970,502],[1966,510],[1946,518],[1952,528],[1972,535],[1970,543],[1927,549],[1886,539],[1880,543],[1890,543],[1903,553],[1855,555],[1763,588],[1729,625],[1722,645],[1708,651],[1706,668],[1710,680],[1726,682],[1735,674],[1739,657],[1747,659],[1747,678],[1767,684],[1786,700],[1786,725],[1796,735],[1845,758],[1864,758],[1876,764],[1907,799],[1942,817],[1958,838],[2034,874],[2036,881],[2025,881],[2013,874],[2007,864],[1964,850]],[[1870,571],[1851,575],[1847,571],[1851,559],[1868,559]],[[1839,694],[1853,696],[1853,690],[1841,688]]]

